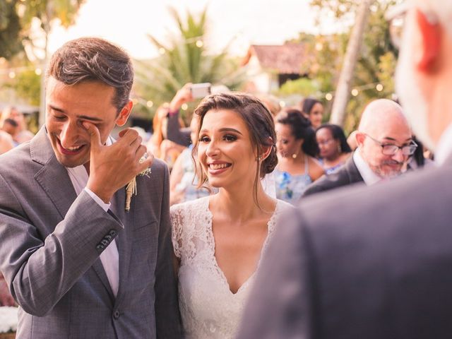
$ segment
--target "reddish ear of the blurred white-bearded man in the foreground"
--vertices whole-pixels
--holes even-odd
[[[421,39],[421,51],[416,66],[420,71],[432,71],[441,49],[441,28],[439,23],[432,23],[419,9],[416,10],[416,21]]]

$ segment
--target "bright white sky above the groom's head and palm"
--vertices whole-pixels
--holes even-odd
[[[309,0],[86,0],[76,24],[68,29],[54,27],[49,52],[76,37],[103,37],[124,47],[133,58],[157,56],[147,35],[165,43],[177,31],[169,15],[172,6],[184,15],[199,13],[208,6],[206,47],[244,55],[250,44],[282,44],[298,32],[319,32]],[[333,30],[330,19],[323,20],[322,32]]]

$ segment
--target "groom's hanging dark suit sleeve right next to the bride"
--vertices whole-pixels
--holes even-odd
[[[155,267],[155,322],[157,338],[181,338],[177,280],[172,266],[171,223],[169,221],[169,172],[164,169],[162,210]]]

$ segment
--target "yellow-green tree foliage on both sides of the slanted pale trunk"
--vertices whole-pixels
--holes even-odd
[[[396,0],[379,0],[371,5],[369,24],[364,31],[364,42],[355,69],[352,88],[358,90],[357,96],[350,97],[347,105],[345,130],[350,132],[357,128],[362,110],[371,100],[393,95],[393,74],[396,68],[397,51],[393,48],[388,31],[388,23],[384,13],[390,6],[398,3]],[[311,6],[325,15],[333,11],[336,20],[346,25],[350,23],[351,13],[355,13],[358,1],[353,0],[311,0]],[[323,93],[334,94],[342,66],[345,49],[350,32],[334,35],[318,36],[311,43],[316,56],[316,65],[311,68],[311,78],[320,83]],[[315,47],[321,46],[321,50]],[[376,85],[383,85],[383,90],[376,89]]]

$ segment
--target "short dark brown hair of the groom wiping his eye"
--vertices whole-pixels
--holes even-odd
[[[46,77],[66,85],[100,81],[115,88],[112,104],[118,112],[129,102],[133,66],[120,47],[97,37],[81,37],[66,42],[54,53]]]

